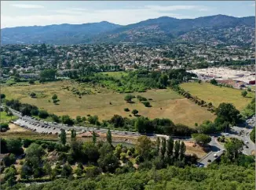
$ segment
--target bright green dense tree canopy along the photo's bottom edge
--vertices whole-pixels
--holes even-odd
[[[167,167],[161,170],[140,170],[136,174],[116,174],[114,176],[105,174],[97,178],[82,177],[70,181],[69,179],[58,179],[41,185],[17,184],[13,190],[27,189],[248,189],[253,190],[254,168],[237,165],[212,164],[211,167]],[[7,185],[3,189],[8,189]],[[10,188],[9,188],[10,189]]]

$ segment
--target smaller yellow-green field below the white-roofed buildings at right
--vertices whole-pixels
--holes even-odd
[[[218,87],[210,83],[184,83],[181,84],[181,88],[192,95],[196,95],[199,99],[203,99],[206,102],[212,102],[216,107],[222,102],[230,102],[239,110],[245,108],[254,97],[253,92],[248,93],[247,97],[243,98],[241,90],[239,89]]]

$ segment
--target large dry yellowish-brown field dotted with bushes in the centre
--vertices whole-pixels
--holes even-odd
[[[82,88],[84,91],[91,91],[90,95],[75,95],[71,90],[63,89]],[[38,98],[31,98],[30,93],[34,91]],[[59,116],[97,115],[100,120],[108,120],[114,114],[123,117],[129,117],[133,109],[139,111],[138,114],[149,118],[170,118],[175,124],[187,124],[194,126],[195,123],[202,123],[203,120],[214,120],[214,115],[206,109],[197,106],[188,99],[184,99],[175,91],[167,90],[148,90],[147,92],[133,93],[133,95],[142,95],[149,101],[152,107],[145,107],[137,99],[134,103],[126,103],[124,97],[126,94],[119,94],[115,91],[101,88],[100,86],[86,86],[74,81],[57,81],[47,84],[36,84],[23,87],[3,87],[2,93],[6,99],[19,99],[20,102],[29,103],[38,106],[39,109],[46,109],[49,113],[55,113]],[[59,105],[54,105],[51,101],[52,95],[57,94],[60,99]],[[130,112],[123,109],[129,108]],[[131,114],[132,115],[132,114]],[[133,117],[133,116],[132,116]]]

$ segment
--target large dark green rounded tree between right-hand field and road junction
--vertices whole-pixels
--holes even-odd
[[[216,110],[216,114],[230,124],[237,124],[241,117],[240,111],[232,103],[221,103]]]

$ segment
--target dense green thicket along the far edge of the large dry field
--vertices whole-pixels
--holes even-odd
[[[194,74],[187,73],[185,69],[170,70],[166,73],[137,70],[121,78],[110,77],[102,73],[90,73],[90,75],[77,78],[76,81],[101,84],[103,87],[108,87],[121,93],[130,93],[133,91],[142,92],[150,88],[166,88],[173,83],[189,81],[193,76]]]

